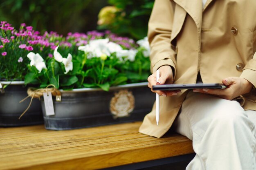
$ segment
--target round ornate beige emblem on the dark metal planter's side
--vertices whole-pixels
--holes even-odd
[[[113,117],[128,117],[134,109],[135,99],[132,92],[128,90],[121,90],[115,93],[110,101],[110,112]]]

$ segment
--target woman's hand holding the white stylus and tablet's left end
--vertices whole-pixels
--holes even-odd
[[[171,66],[161,66],[158,68],[160,72],[160,77],[158,81],[156,81],[156,72],[148,77],[148,87],[153,91],[153,85],[159,84],[173,84],[173,70]],[[173,96],[181,93],[180,90],[175,91],[153,91],[154,93],[159,94],[160,96]]]

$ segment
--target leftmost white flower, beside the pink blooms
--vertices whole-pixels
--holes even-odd
[[[39,71],[38,73],[41,73],[43,68],[46,69],[45,62],[43,60],[43,57],[41,57],[40,54],[38,53],[35,54],[33,52],[30,52],[27,54],[27,57],[29,58],[29,60],[31,60],[30,66],[35,66],[36,69]]]

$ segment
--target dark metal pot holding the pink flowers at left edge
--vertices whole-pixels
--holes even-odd
[[[24,86],[23,81],[0,83],[2,85],[9,84],[4,90],[1,89],[0,93],[1,127],[43,124],[43,113],[38,99],[34,99],[25,115],[18,119],[30,102],[30,99],[27,99],[19,103],[20,100],[27,97],[27,87]]]

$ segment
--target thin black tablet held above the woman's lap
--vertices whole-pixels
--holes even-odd
[[[182,89],[195,89],[195,88],[219,88],[224,89],[227,86],[219,83],[199,83],[199,84],[161,84],[153,86],[154,91],[173,91]]]

